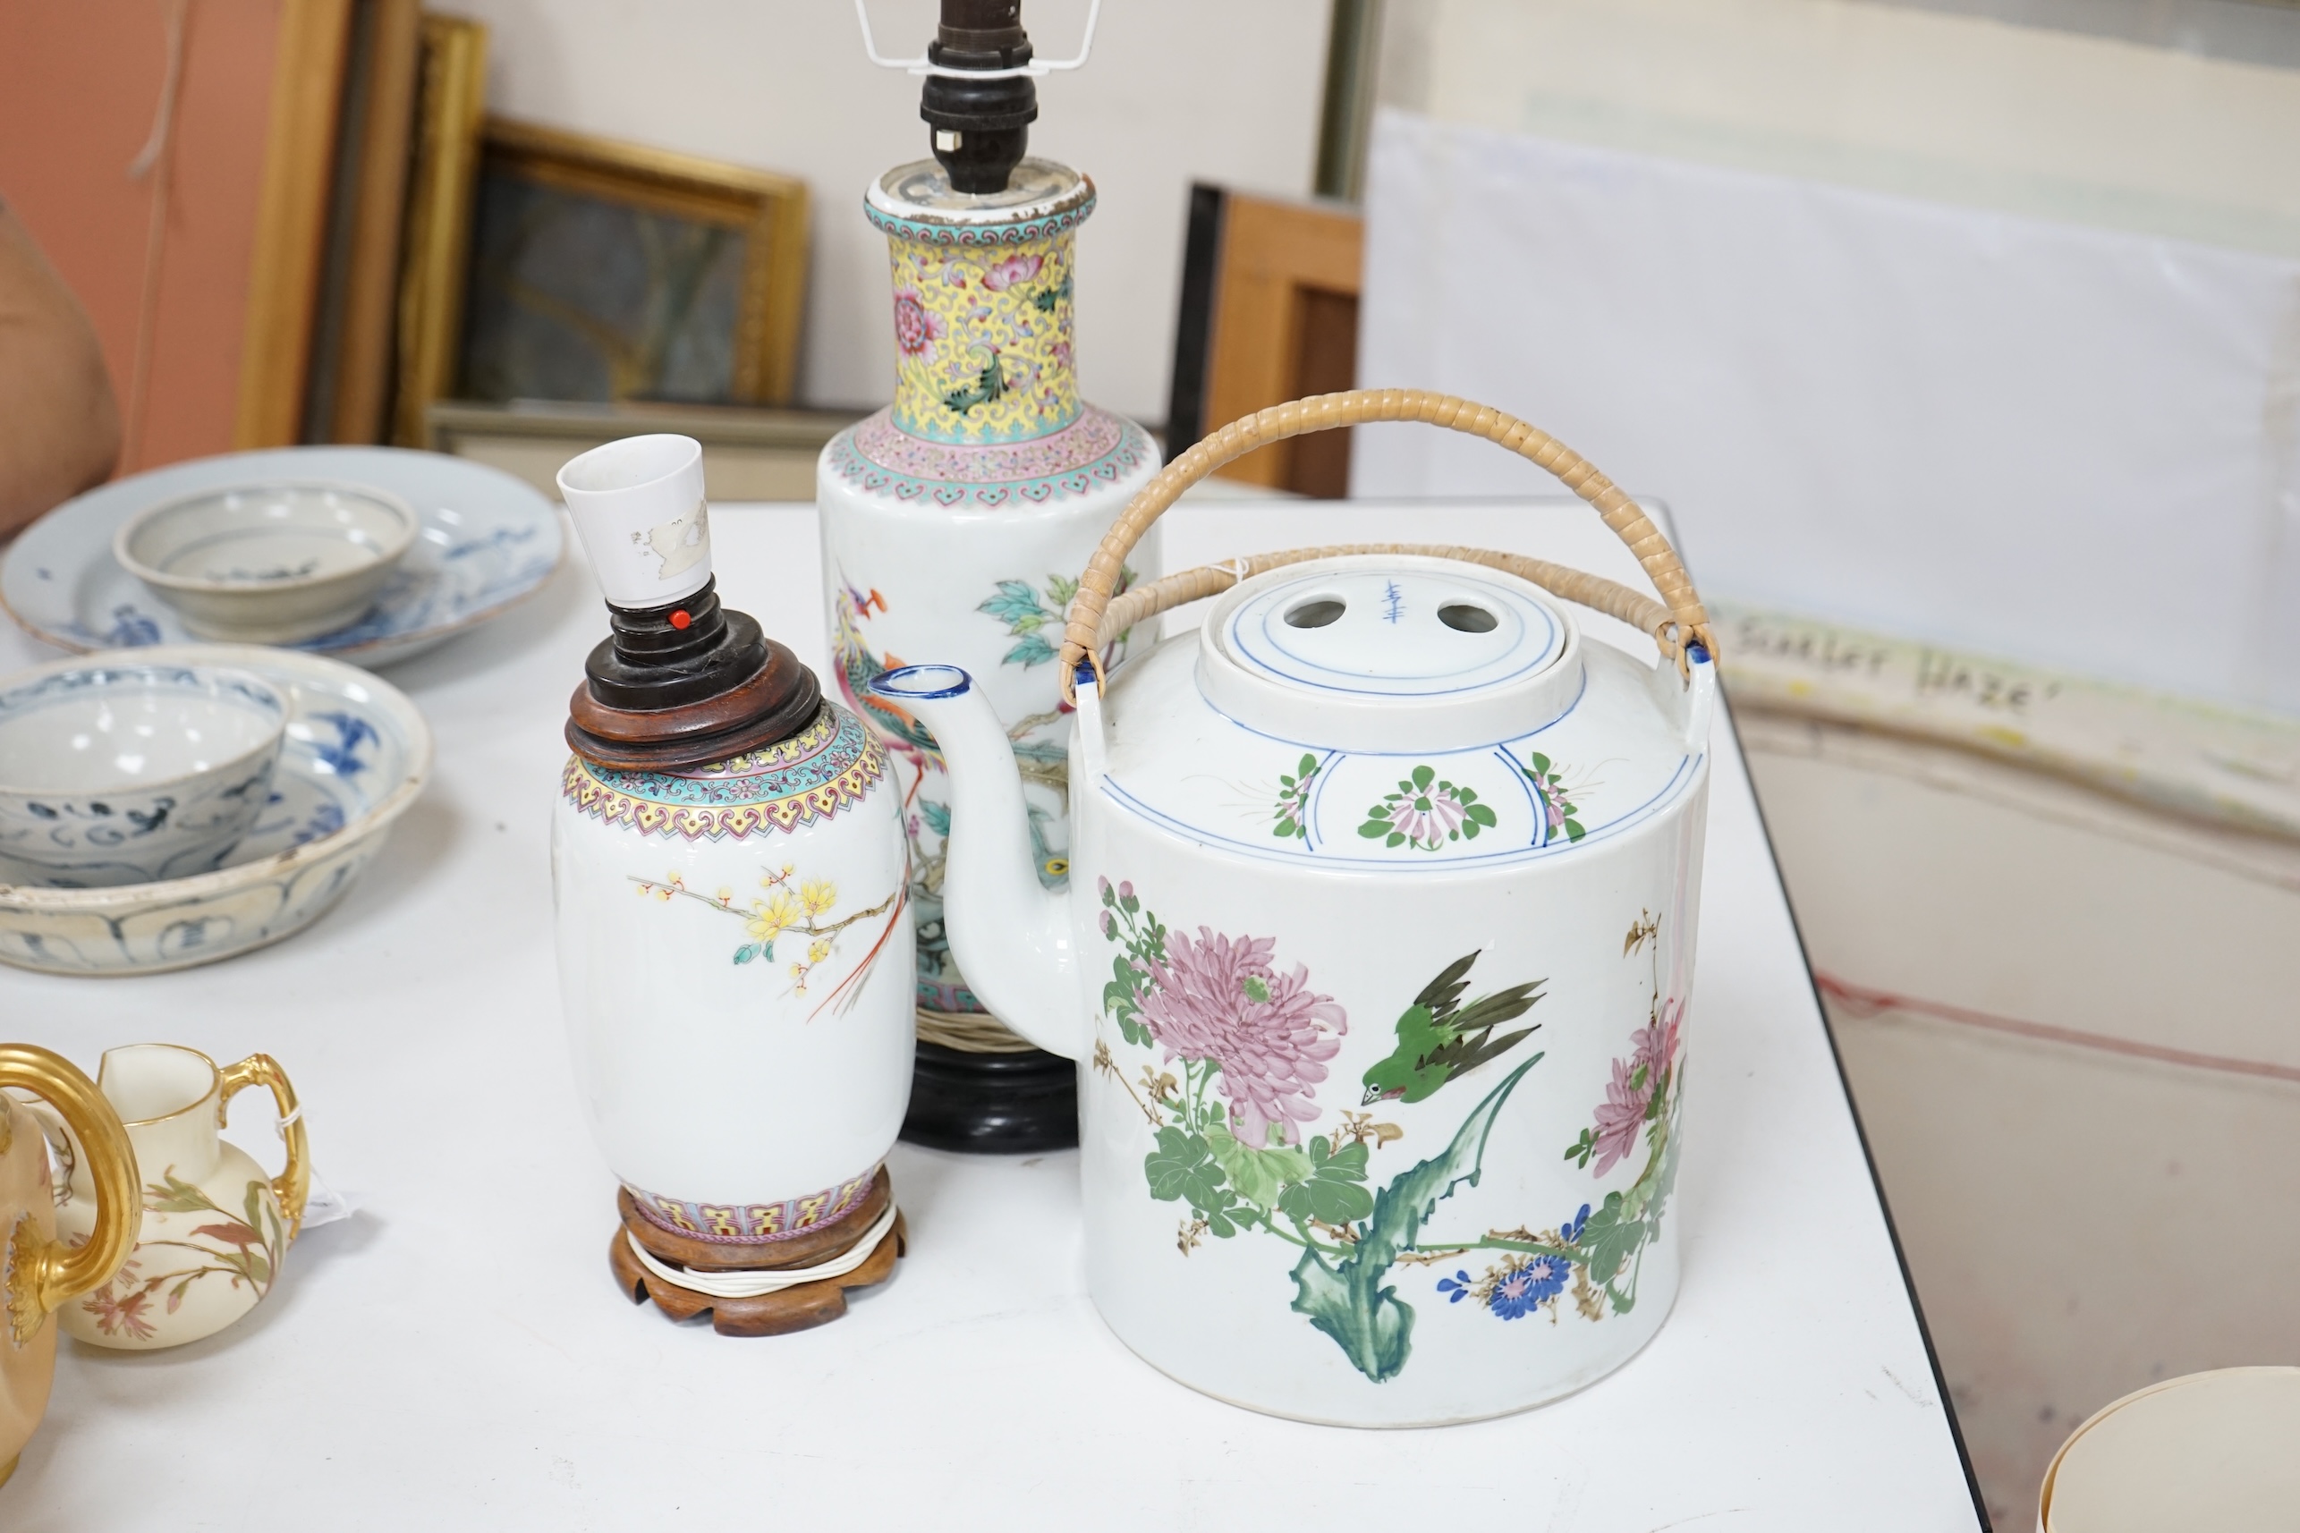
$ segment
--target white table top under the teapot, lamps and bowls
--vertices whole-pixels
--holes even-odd
[[[1417,538],[1635,579],[1573,503],[1414,517]],[[1182,568],[1398,538],[1398,513],[1208,501],[1168,526],[1166,568]],[[713,540],[727,604],[821,667],[814,510],[715,508]],[[1626,634],[1589,621],[1608,630]],[[559,729],[600,637],[575,568],[389,673],[437,731],[437,777],[310,931],[179,975],[0,970],[0,1034],[87,1069],[131,1041],[276,1055],[322,1177],[359,1202],[232,1331],[159,1354],[67,1342],[0,1526],[1978,1526],[1725,724],[1674,1214],[1684,1294],[1644,1354],[1580,1395],[1412,1432],[1196,1395],[1095,1317],[1074,1154],[899,1145],[911,1255],[819,1331],[729,1340],[635,1308],[607,1273],[614,1179],[577,1115],[552,963]],[[0,632],[0,671],[46,657]],[[235,1135],[276,1165],[255,1099]]]

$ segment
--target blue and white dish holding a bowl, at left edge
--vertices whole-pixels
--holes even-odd
[[[113,889],[0,883],[0,963],[147,975],[278,942],[343,899],[430,777],[423,715],[359,667],[237,644],[154,646],[133,660],[232,667],[281,694],[288,740],[269,802],[214,873]]]

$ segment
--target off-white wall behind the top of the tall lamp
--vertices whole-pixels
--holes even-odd
[[[892,398],[885,241],[862,188],[927,156],[918,80],[862,57],[842,0],[446,0],[490,28],[488,108],[807,179],[798,370],[810,405]],[[1030,152],[1095,179],[1079,237],[1088,398],[1166,418],[1189,182],[1302,195],[1318,154],[1327,0],[1106,0],[1092,62],[1040,83]],[[883,53],[922,53],[934,0],[874,0]],[[1023,9],[1070,57],[1086,0]]]

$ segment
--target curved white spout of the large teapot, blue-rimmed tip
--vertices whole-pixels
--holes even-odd
[[[918,717],[950,768],[943,931],[966,986],[1046,1053],[1083,1057],[1070,901],[1037,880],[1021,772],[998,712],[959,667],[897,667],[869,687]]]

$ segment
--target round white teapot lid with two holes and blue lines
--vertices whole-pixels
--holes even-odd
[[[1573,708],[1580,632],[1516,575],[1346,554],[1270,570],[1217,600],[1198,690],[1281,740],[1470,749],[1529,735]]]

